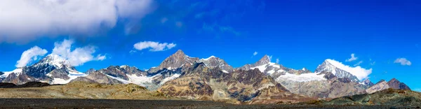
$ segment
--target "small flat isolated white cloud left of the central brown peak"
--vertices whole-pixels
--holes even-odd
[[[143,41],[139,43],[135,43],[133,47],[136,50],[144,50],[147,48],[150,48],[149,51],[163,51],[163,50],[169,50],[171,48],[175,47],[175,43],[159,43],[159,42],[153,42],[153,41]]]

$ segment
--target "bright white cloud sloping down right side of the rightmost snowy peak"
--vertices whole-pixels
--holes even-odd
[[[347,66],[333,59],[327,59],[327,61],[329,61],[330,64],[333,64],[333,66],[336,66],[337,68],[340,68],[344,71],[351,73],[352,75],[355,75],[356,78],[358,78],[359,80],[368,78],[368,75],[370,75],[370,73],[373,71],[373,68],[366,69],[366,68],[361,68],[361,66],[356,66],[356,67]]]

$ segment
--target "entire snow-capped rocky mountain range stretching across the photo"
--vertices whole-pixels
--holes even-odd
[[[326,59],[314,72],[293,69],[270,61],[265,55],[255,64],[233,68],[218,57],[199,59],[178,50],[159,66],[142,71],[134,66],[109,66],[81,73],[66,59],[49,54],[39,62],[0,72],[1,82],[67,84],[85,81],[101,84],[133,83],[169,96],[230,103],[300,102],[372,94],[384,89],[410,89],[395,78],[376,84],[359,80],[337,61]]]

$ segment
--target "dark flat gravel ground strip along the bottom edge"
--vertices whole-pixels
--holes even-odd
[[[417,108],[409,106],[232,105],[213,101],[0,99],[0,108]]]

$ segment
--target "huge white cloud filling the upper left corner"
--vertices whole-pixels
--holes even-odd
[[[153,7],[153,0],[4,0],[0,1],[0,42],[93,34],[113,28],[119,18],[140,20]]]

